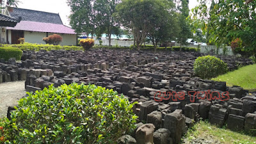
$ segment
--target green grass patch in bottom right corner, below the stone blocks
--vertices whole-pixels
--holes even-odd
[[[256,143],[256,136],[248,136],[243,132],[234,132],[225,128],[219,128],[209,122],[198,122],[191,129],[184,138],[191,141],[193,138],[204,138],[205,136],[212,136],[214,140],[221,143]]]

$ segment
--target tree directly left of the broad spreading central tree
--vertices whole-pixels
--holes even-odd
[[[97,28],[99,33],[105,31],[109,38],[109,46],[111,46],[111,35],[118,30],[118,22],[113,18],[113,13],[116,12],[116,5],[120,0],[96,0],[94,9],[97,19]]]

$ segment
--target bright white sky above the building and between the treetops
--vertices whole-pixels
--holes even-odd
[[[69,26],[68,15],[70,8],[67,0],[20,0],[18,8],[26,8],[29,10],[38,10],[43,12],[60,13],[63,24]],[[194,8],[197,5],[196,0],[189,0],[189,8]]]

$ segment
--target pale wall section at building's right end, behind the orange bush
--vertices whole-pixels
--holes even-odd
[[[48,36],[53,34],[54,33],[48,33]],[[60,33],[57,33],[57,34],[62,37],[62,42],[60,43],[60,45],[76,45],[76,42],[77,42],[76,35],[60,34]]]

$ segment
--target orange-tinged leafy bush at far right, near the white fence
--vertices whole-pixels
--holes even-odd
[[[253,55],[252,51],[246,51],[246,48],[240,38],[236,38],[231,42],[231,49],[234,54],[241,54],[244,58],[249,58]]]

